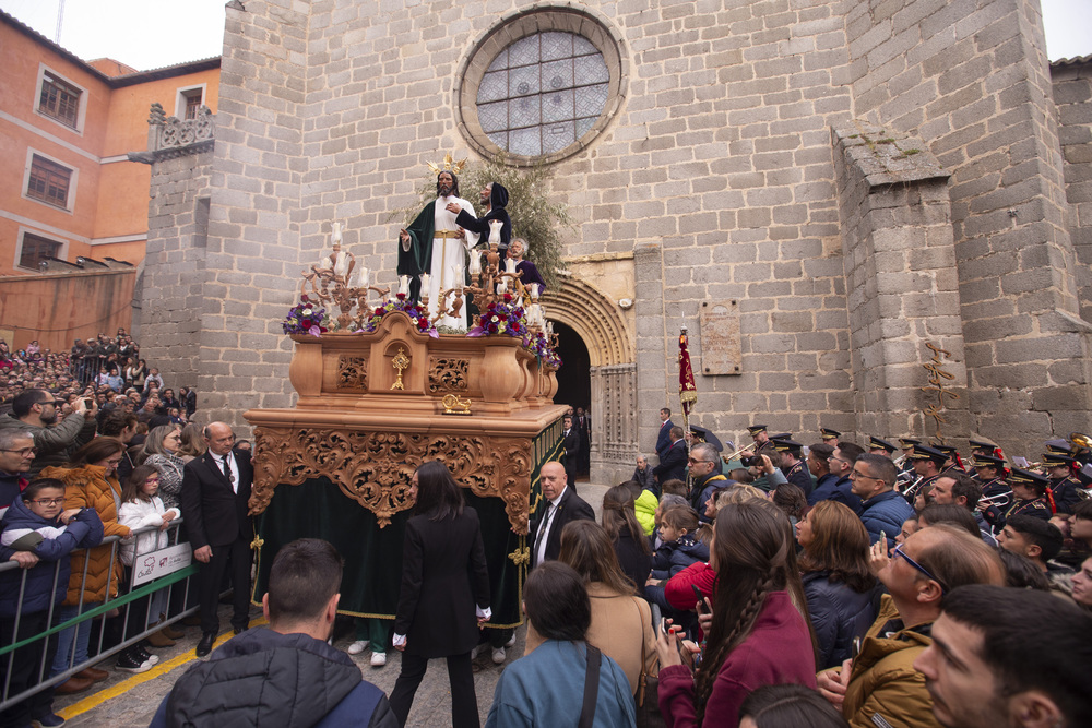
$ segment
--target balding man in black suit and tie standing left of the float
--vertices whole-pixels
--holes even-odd
[[[204,429],[209,452],[186,464],[180,496],[182,517],[193,546],[201,604],[201,642],[198,657],[212,652],[219,630],[216,607],[224,573],[230,564],[235,612],[232,626],[239,634],[250,623],[250,542],[254,537],[247,501],[254,470],[250,458],[232,446],[235,433],[224,422]]]

